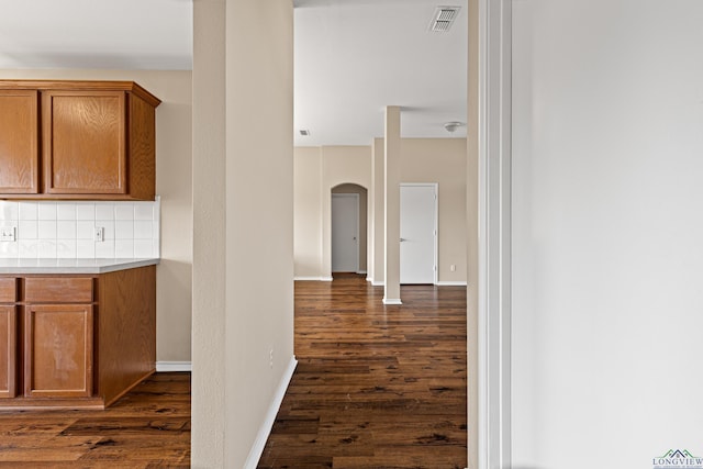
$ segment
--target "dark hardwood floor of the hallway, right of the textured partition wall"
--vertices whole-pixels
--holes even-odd
[[[465,468],[466,288],[295,282],[298,368],[259,468]]]

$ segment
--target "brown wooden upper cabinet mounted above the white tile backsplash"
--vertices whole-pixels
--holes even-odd
[[[132,81],[0,80],[0,198],[154,200],[159,103]]]

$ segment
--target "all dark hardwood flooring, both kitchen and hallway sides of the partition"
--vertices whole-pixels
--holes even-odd
[[[259,468],[465,468],[466,289],[295,283],[298,369]],[[0,467],[187,468],[190,373],[105,411],[0,412]]]

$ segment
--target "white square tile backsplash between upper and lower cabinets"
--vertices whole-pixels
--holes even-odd
[[[160,202],[0,200],[0,228],[4,259],[159,257]]]

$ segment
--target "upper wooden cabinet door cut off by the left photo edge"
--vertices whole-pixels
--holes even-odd
[[[0,193],[40,189],[38,93],[0,90]]]

